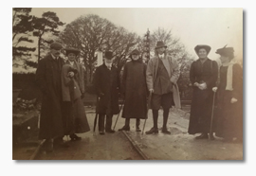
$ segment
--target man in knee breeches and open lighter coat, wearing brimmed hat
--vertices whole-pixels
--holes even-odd
[[[163,108],[162,132],[171,134],[167,129],[169,110],[173,106],[180,108],[180,97],[177,86],[179,78],[179,66],[177,62],[168,56],[167,45],[158,41],[155,46],[155,57],[148,62],[146,79],[148,89],[152,94],[151,109],[153,113],[154,127],[146,134],[158,133],[158,110]]]

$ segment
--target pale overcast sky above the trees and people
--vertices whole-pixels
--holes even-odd
[[[243,57],[243,9],[32,9],[31,14],[41,16],[54,11],[60,20],[68,24],[81,15],[93,13],[106,18],[115,25],[143,35],[147,28],[172,29],[175,37],[185,44],[192,56],[196,44],[211,46],[210,59],[215,60],[219,47],[233,46],[235,55]]]

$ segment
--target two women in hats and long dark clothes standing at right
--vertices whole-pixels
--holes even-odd
[[[192,107],[189,133],[196,139],[214,139],[213,132],[225,141],[243,141],[243,70],[233,62],[233,47],[219,48],[221,66],[208,58],[209,45],[196,45],[199,59],[192,62]]]

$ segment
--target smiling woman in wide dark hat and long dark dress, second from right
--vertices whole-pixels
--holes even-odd
[[[190,71],[193,93],[189,133],[201,132],[196,139],[206,139],[210,132],[213,98],[211,89],[216,85],[218,79],[218,65],[217,62],[213,62],[207,57],[210,52],[209,45],[196,45],[194,50],[199,59],[192,62]],[[210,135],[212,137],[212,134]]]

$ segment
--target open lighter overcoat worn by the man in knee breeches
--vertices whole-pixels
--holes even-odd
[[[176,83],[180,75],[178,63],[171,56],[168,56],[168,55],[165,55],[165,58],[162,61],[168,72],[169,78],[173,83],[175,107],[181,108],[179,90],[178,90],[178,85]],[[154,89],[154,82],[156,79],[158,63],[159,63],[158,56],[155,56],[148,62],[147,71],[146,71],[146,80],[147,80],[147,86],[149,90]]]

